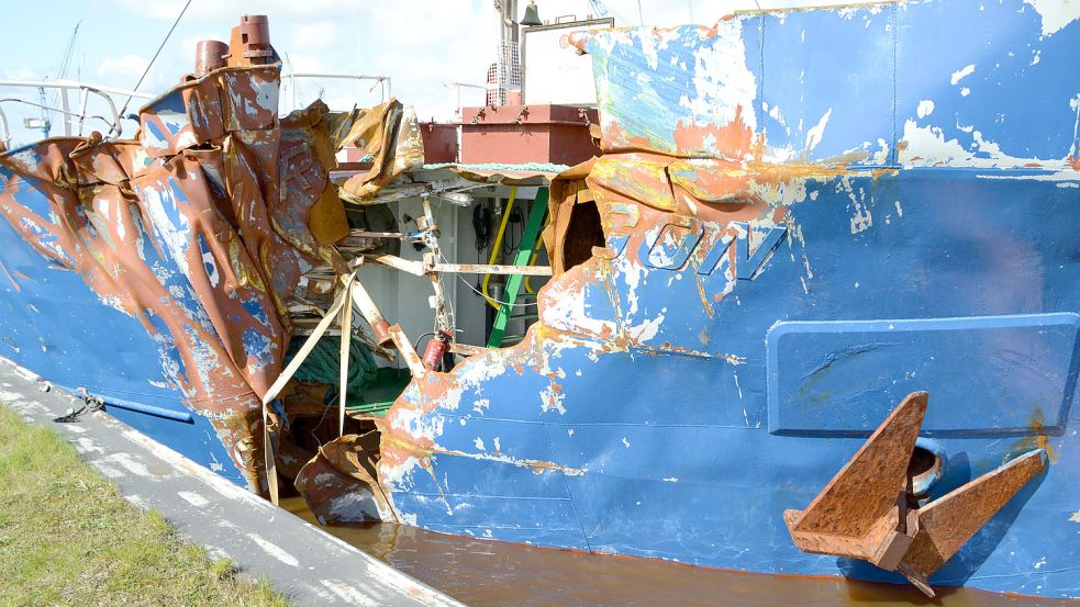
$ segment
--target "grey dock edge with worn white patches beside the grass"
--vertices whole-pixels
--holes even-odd
[[[463,604],[236,486],[105,413],[53,420],[82,401],[0,358],[0,403],[49,427],[120,487],[156,509],[211,557],[243,575],[264,576],[297,605],[438,606]]]

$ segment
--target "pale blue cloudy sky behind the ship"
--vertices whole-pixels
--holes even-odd
[[[21,2],[4,13],[0,37],[0,79],[55,79],[76,24],[78,35],[68,79],[133,89],[186,0],[56,0]],[[815,0],[758,0],[760,5],[805,5]],[[520,0],[523,13],[527,0]],[[616,25],[711,24],[755,0],[604,0]],[[541,19],[593,13],[588,0],[537,0]],[[350,72],[390,76],[392,93],[426,120],[455,117],[450,82],[482,82],[499,41],[492,0],[192,0],[183,19],[154,61],[141,92],[157,94],[192,68],[199,40],[229,40],[242,14],[266,14],[270,37],[286,60],[285,71]],[[470,97],[471,95],[471,97]],[[463,104],[482,102],[482,92],[465,90]],[[36,101],[33,89],[0,88],[0,98]],[[52,95],[51,95],[52,97]],[[332,109],[374,105],[381,91],[371,83],[308,80],[297,87],[300,106],[323,98]],[[123,98],[121,99],[121,103]],[[285,91],[281,111],[292,109]],[[137,109],[134,100],[129,113]],[[3,102],[14,143],[40,138],[22,127],[36,110]],[[99,109],[102,111],[103,108]],[[126,135],[132,135],[127,126]],[[62,131],[54,116],[53,135]]]

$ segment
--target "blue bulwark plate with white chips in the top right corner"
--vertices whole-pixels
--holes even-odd
[[[1068,9],[1047,4],[1044,16],[1034,4],[899,4],[897,131],[915,146],[902,154],[909,161],[957,162],[970,155],[1023,166],[1023,159],[1065,159],[1075,148],[1080,22],[1061,19],[1060,30],[1044,35],[1058,22],[1054,13]],[[955,145],[921,147],[927,136]]]

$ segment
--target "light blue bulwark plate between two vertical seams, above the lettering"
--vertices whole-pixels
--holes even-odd
[[[778,160],[891,164],[895,11],[876,4],[758,18],[759,130]]]

